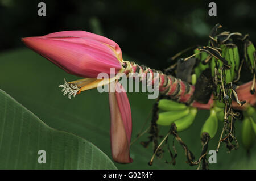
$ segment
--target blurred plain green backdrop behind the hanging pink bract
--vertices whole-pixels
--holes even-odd
[[[96,89],[82,92],[76,98],[69,100],[63,96],[58,87],[63,84],[63,78],[67,81],[76,80],[77,77],[65,73],[45,58],[29,49],[11,50],[0,54],[0,88],[8,92],[14,99],[22,103],[49,127],[61,131],[71,132],[86,138],[111,158],[110,150],[110,115],[108,94],[100,94]],[[146,93],[128,93],[131,113],[133,116],[133,134],[131,140],[141,131],[146,117],[152,114],[154,99],[148,99]],[[199,111],[195,123],[180,136],[188,148],[199,158],[201,153],[200,131],[204,121],[209,116],[209,111]],[[147,121],[146,129],[149,126]],[[223,124],[223,123],[222,123]],[[222,124],[219,124],[217,135],[220,135]],[[165,135],[168,127],[161,128],[161,134]],[[123,165],[115,163],[118,169],[196,169],[185,163],[184,150],[175,142],[178,156],[176,165],[168,165],[164,160],[170,161],[167,150],[164,158],[155,158],[152,166],[148,166],[153,148],[143,148],[141,141],[147,140],[145,134],[131,146],[131,157],[134,162]],[[241,122],[236,122],[236,136],[241,143]],[[216,149],[218,136],[210,140],[209,149]],[[172,145],[172,138],[170,137]],[[256,169],[256,146],[247,154],[240,148],[232,150],[230,154],[221,146],[217,154],[217,164],[211,164],[210,169]]]

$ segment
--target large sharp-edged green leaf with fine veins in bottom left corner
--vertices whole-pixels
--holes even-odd
[[[46,151],[46,163],[43,154]],[[0,169],[116,169],[100,149],[53,129],[0,89]]]

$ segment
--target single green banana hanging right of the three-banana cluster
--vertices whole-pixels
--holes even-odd
[[[217,133],[217,129],[218,129],[218,118],[216,116],[216,111],[214,109],[211,109],[210,116],[205,121],[201,129],[201,135],[203,135],[204,132],[207,132],[210,138],[213,138]]]

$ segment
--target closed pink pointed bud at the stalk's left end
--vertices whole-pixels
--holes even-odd
[[[61,69],[80,77],[97,78],[122,68],[122,52],[114,41],[85,31],[63,31],[22,38],[23,43]]]

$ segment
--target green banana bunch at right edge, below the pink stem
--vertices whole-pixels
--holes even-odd
[[[245,116],[242,120],[242,144],[247,150],[253,146],[256,137],[256,110],[252,106],[247,106],[243,111]]]

